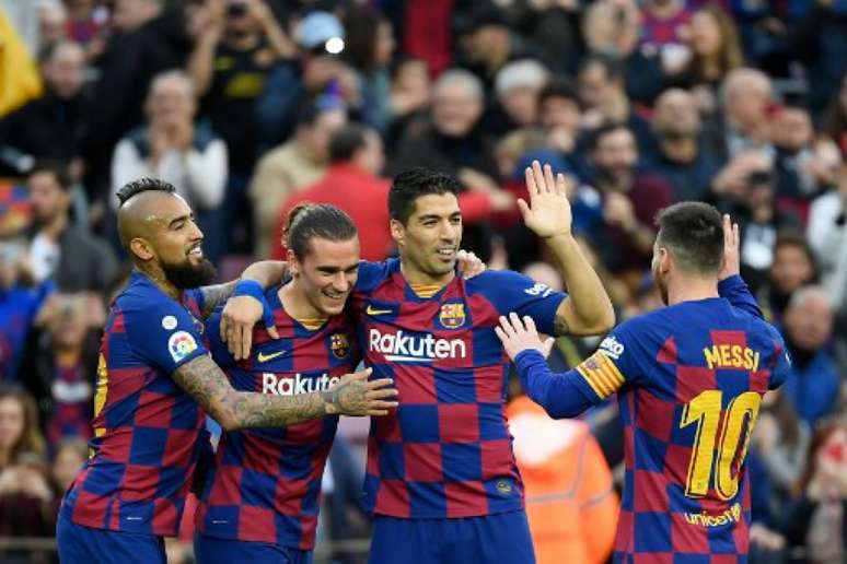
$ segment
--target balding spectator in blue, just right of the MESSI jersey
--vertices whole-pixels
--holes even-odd
[[[810,427],[836,406],[840,376],[829,341],[833,310],[820,286],[804,286],[791,295],[786,309],[784,337],[791,353],[791,368],[782,393]]]

